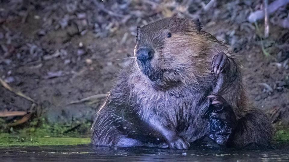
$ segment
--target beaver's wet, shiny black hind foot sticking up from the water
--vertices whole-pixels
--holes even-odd
[[[237,125],[232,107],[220,95],[208,96],[211,101],[209,107],[209,137],[219,145],[226,145]]]

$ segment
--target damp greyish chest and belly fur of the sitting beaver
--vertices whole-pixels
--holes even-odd
[[[129,76],[129,90],[126,98],[126,109],[122,117],[127,125],[129,137],[146,142],[164,142],[162,137],[146,127],[147,119],[156,120],[168,128],[177,130],[180,135],[187,136],[189,141],[204,136],[207,133],[207,119],[204,112],[209,106],[206,98],[212,91],[213,84],[176,86],[169,90],[157,90],[138,76]],[[207,82],[213,80],[209,79]],[[151,116],[154,114],[154,116]]]

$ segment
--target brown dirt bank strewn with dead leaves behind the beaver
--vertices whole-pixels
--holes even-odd
[[[199,18],[205,31],[240,55],[249,98],[276,125],[288,126],[289,30],[271,22],[265,39],[263,19],[247,21],[262,1],[220,1],[206,10],[208,2],[2,0],[0,77],[39,103],[49,122],[92,121],[103,97],[69,103],[110,90],[115,73],[133,57],[137,26],[166,16]],[[270,20],[284,18],[288,7]],[[0,99],[0,111],[29,111],[32,104],[3,86]]]

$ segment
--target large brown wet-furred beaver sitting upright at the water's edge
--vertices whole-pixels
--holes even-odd
[[[92,125],[98,146],[189,149],[268,144],[272,125],[247,99],[240,63],[198,20],[138,27],[135,58],[116,77]]]

